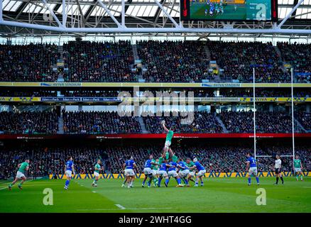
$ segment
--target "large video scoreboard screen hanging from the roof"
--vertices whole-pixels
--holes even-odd
[[[277,21],[278,0],[180,0],[182,21]]]

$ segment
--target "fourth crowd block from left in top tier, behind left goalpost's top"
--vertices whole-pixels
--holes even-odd
[[[218,42],[207,43],[211,60],[224,70],[224,75],[239,82],[289,82],[290,75],[283,70],[283,62],[272,43]]]

